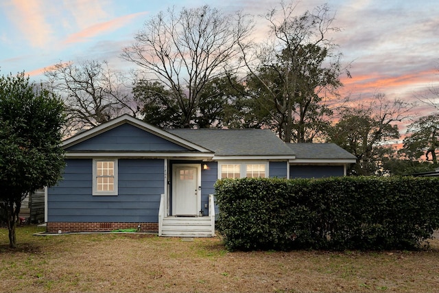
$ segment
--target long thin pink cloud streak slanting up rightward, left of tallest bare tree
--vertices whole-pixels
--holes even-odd
[[[112,19],[111,21],[106,21],[104,23],[98,23],[97,25],[92,25],[91,27],[88,27],[85,30],[82,30],[75,34],[71,34],[66,40],[64,40],[64,43],[65,44],[80,43],[86,41],[88,38],[97,36],[98,34],[102,34],[104,32],[112,32],[114,30],[117,30],[119,27],[123,27],[123,25],[129,23],[132,19],[135,19],[145,14],[147,14],[147,12],[128,14],[125,16],[118,17],[116,19]]]

